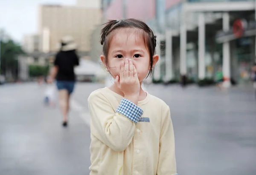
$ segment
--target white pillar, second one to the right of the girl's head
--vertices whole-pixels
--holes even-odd
[[[165,59],[165,66],[166,66],[166,75],[165,80],[169,81],[173,77],[173,69],[172,69],[172,31],[166,31],[166,59]]]

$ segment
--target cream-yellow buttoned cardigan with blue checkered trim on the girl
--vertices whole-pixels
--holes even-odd
[[[110,89],[88,98],[90,175],[177,175],[169,106],[147,93],[137,105]]]

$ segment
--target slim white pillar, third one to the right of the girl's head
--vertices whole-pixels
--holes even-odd
[[[185,14],[183,14],[185,15]],[[186,74],[186,22],[185,17],[181,20],[180,25],[180,74]]]

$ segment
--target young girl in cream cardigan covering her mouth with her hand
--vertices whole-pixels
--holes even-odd
[[[169,106],[141,88],[159,58],[156,36],[139,20],[111,20],[101,44],[115,83],[88,98],[90,175],[176,175]]]

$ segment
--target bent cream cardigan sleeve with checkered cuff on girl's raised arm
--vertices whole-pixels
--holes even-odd
[[[131,143],[136,124],[143,110],[127,99],[122,99],[116,110],[101,93],[88,98],[91,133],[114,151],[124,151]]]

